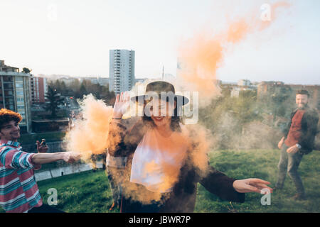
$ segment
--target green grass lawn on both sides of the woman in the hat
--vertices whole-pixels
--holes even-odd
[[[273,187],[277,180],[279,155],[279,150],[223,150],[213,151],[209,157],[211,165],[229,177],[257,177],[270,181]],[[320,212],[319,157],[319,151],[305,155],[299,167],[306,188],[306,201],[290,199],[295,194],[295,187],[289,177],[284,189],[271,195],[269,206],[262,206],[262,195],[256,193],[247,194],[243,204],[222,201],[199,184],[195,212]],[[49,196],[48,189],[57,189],[56,207],[67,212],[109,212],[112,204],[109,182],[102,170],[48,179],[38,182],[38,186],[45,203]]]

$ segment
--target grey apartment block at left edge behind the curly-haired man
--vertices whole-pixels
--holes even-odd
[[[0,108],[21,114],[21,132],[31,131],[30,76],[0,60]]]

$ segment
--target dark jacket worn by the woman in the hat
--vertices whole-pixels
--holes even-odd
[[[134,184],[129,182],[132,158],[137,145],[148,130],[148,126],[143,124],[142,121],[138,121],[129,131],[127,131],[127,128],[122,124],[118,124],[117,130],[114,130],[114,128],[112,129],[110,130],[110,133],[112,133],[113,136],[117,133],[122,134],[122,136],[116,148],[114,150],[109,149],[110,155],[128,157],[126,166],[127,177],[126,182],[123,184],[124,196],[122,196],[122,212],[193,212],[196,204],[198,182],[209,192],[216,194],[221,199],[237,202],[245,201],[245,194],[238,193],[233,188],[235,179],[227,177],[213,167],[210,167],[206,177],[201,177],[201,174],[199,174],[200,170],[198,170],[197,167],[194,167],[191,164],[191,161],[188,161],[191,157],[187,155],[187,160],[181,167],[178,182],[174,185],[173,191],[169,194],[164,194],[164,198],[161,200],[161,203],[158,204],[159,206],[156,202],[150,205],[143,205],[136,199],[127,196],[125,188],[132,187],[132,184]],[[147,196],[147,194],[151,193],[140,184],[136,184],[135,187],[139,190],[139,194],[145,194]]]

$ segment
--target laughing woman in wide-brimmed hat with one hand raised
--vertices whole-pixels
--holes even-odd
[[[144,116],[132,128],[124,126],[129,97],[118,94],[109,134],[110,160],[125,160],[119,181],[121,212],[193,212],[198,182],[229,201],[245,201],[245,192],[272,191],[262,179],[232,179],[210,167],[208,160],[208,167],[199,165],[202,147],[179,114],[188,99],[176,95],[172,84],[151,82],[144,96],[132,101],[143,101]]]

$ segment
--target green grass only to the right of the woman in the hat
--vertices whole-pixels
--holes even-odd
[[[279,150],[248,150],[248,151],[218,151],[210,153],[210,164],[229,177],[245,179],[250,177],[269,181],[270,187],[277,182],[277,163]],[[245,203],[229,203],[221,201],[199,185],[195,212],[320,212],[320,165],[319,151],[304,155],[299,166],[299,173],[306,190],[306,201],[290,199],[296,194],[294,183],[289,176],[284,183],[284,189],[271,194],[271,204],[263,206],[260,203],[262,194],[246,194]]]

